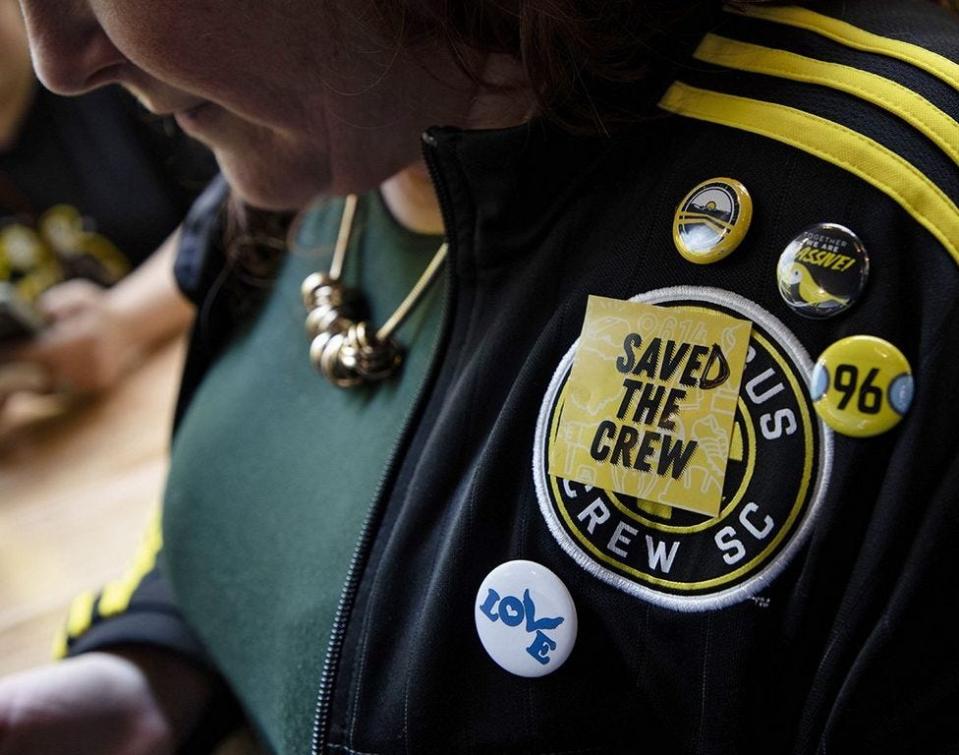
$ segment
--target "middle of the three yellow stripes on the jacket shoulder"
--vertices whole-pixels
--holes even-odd
[[[818,84],[859,97],[898,116],[959,164],[959,122],[919,94],[867,71],[708,34],[695,57],[739,71]]]

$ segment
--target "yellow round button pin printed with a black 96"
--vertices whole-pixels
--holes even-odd
[[[849,336],[829,346],[813,367],[810,394],[833,430],[867,438],[891,430],[912,404],[909,361],[888,341]]]

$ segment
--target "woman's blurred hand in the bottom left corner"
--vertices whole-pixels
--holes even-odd
[[[88,653],[0,680],[0,755],[161,755],[211,694],[201,671],[163,650]]]

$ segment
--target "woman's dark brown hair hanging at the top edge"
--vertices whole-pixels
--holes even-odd
[[[729,0],[735,5],[814,0]],[[959,0],[933,0],[959,9]],[[651,110],[722,0],[372,0],[399,44],[445,40],[474,80],[476,51],[519,60],[540,115],[607,131]],[[485,83],[485,82],[484,82]]]

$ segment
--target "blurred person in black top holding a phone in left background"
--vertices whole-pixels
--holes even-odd
[[[19,6],[0,0],[0,285],[44,323],[0,343],[0,405],[106,389],[186,329],[174,231],[214,168],[120,87],[40,85]]]

